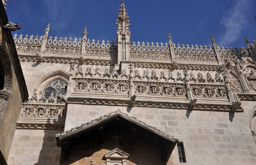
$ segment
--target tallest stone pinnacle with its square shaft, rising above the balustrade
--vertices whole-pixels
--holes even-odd
[[[117,43],[117,64],[120,61],[130,61],[130,36],[131,31],[129,29],[130,21],[128,20],[128,13],[124,2],[121,2],[119,13],[117,16],[116,25],[116,43]]]

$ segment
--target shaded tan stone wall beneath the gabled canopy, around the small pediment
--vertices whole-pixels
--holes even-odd
[[[114,136],[118,133],[119,138]],[[102,143],[100,141],[102,140]],[[116,145],[116,140],[118,145]],[[154,164],[154,165],[167,165],[169,162],[162,161],[162,154],[159,150],[145,144],[144,142],[134,139],[131,142],[131,136],[126,134],[124,131],[113,130],[102,137],[98,137],[87,141],[83,144],[77,145],[70,149],[69,158],[64,158],[64,152],[61,153],[60,165],[69,164],[90,164],[93,161],[95,165],[101,165],[106,162],[104,154],[108,151],[119,148],[124,152],[128,153],[127,164],[142,165]],[[167,160],[170,158],[168,155]]]

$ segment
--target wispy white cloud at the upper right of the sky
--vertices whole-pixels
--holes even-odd
[[[246,27],[246,11],[249,7],[248,0],[236,0],[220,21],[226,27],[226,32],[219,45],[228,46],[236,41],[242,29]]]

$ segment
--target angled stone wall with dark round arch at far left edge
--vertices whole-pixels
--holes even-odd
[[[5,1],[3,1],[5,2]],[[5,8],[0,5],[0,164],[7,164],[20,108],[28,98]]]

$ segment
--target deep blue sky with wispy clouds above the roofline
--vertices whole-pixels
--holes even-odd
[[[7,16],[21,30],[13,34],[49,35],[116,41],[115,25],[120,0],[9,0]],[[255,0],[124,1],[131,23],[131,42],[167,42],[170,31],[175,44],[210,45],[210,34],[219,46],[245,47],[256,36]]]

